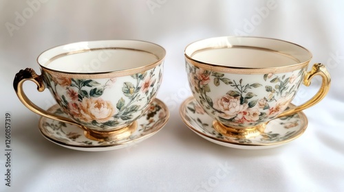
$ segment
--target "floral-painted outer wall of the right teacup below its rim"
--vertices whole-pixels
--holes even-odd
[[[305,69],[290,73],[218,73],[186,62],[189,84],[206,113],[221,123],[247,127],[275,118],[290,104]]]

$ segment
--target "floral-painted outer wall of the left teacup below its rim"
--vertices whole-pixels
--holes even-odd
[[[107,79],[69,78],[46,71],[43,74],[47,87],[69,117],[87,128],[111,130],[128,125],[147,109],[160,86],[162,66]]]

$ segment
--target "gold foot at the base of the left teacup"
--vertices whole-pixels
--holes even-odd
[[[121,128],[120,130],[114,131],[96,131],[80,126],[84,130],[84,134],[88,139],[95,141],[116,141],[129,137],[138,128],[138,123],[134,121],[127,127]]]

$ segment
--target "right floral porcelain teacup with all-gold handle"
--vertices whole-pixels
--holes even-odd
[[[191,43],[185,49],[186,73],[193,97],[228,136],[259,135],[272,119],[310,108],[325,97],[330,75],[323,64],[307,72],[312,54],[283,40],[224,36]],[[322,77],[318,93],[287,109],[301,82]]]

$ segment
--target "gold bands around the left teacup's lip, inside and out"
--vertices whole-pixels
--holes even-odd
[[[43,53],[46,53],[47,51],[50,51],[51,49],[57,48],[57,47],[62,47],[65,45],[72,45],[72,44],[78,44],[78,43],[96,43],[96,42],[101,42],[101,41],[117,41],[117,40],[95,40],[95,41],[82,41],[82,42],[77,42],[77,43],[69,43],[69,44],[64,44],[64,45],[58,45],[56,47],[52,47],[50,49],[47,49],[45,51],[43,51],[36,59],[36,62],[39,64],[39,66],[41,67],[41,69],[43,71],[47,71],[48,73],[54,73],[56,75],[59,75],[61,77],[75,77],[75,78],[93,78],[93,79],[97,79],[97,78],[108,78],[108,77],[122,77],[122,76],[127,76],[127,75],[133,75],[136,73],[142,73],[144,71],[147,71],[149,69],[153,69],[154,67],[157,67],[158,65],[162,64],[164,62],[164,58],[166,56],[166,50],[164,49],[164,47],[155,44],[155,43],[150,43],[147,41],[143,41],[143,40],[118,40],[118,41],[127,41],[127,42],[140,42],[140,43],[147,43],[150,45],[155,45],[157,47],[159,47],[162,51],[162,57],[160,58],[159,56],[157,56],[155,53],[152,53],[150,51],[145,51],[142,49],[133,49],[133,48],[127,48],[127,47],[99,47],[99,48],[91,48],[91,49],[80,49],[77,51],[69,51],[69,52],[65,52],[65,53],[61,53],[58,54],[57,56],[54,56],[52,58],[50,58],[49,60],[47,60],[47,62],[52,62],[52,60],[56,60],[57,58],[61,58],[63,56],[69,56],[72,54],[76,54],[76,53],[84,53],[87,51],[98,51],[98,50],[105,50],[105,49],[127,49],[127,50],[132,50],[132,51],[142,51],[142,52],[146,52],[146,53],[150,53],[151,55],[155,56],[155,58],[157,58],[158,60],[156,62],[152,62],[150,64],[146,64],[142,67],[136,67],[133,69],[122,69],[122,70],[116,70],[116,71],[106,71],[106,72],[94,72],[94,73],[78,73],[78,72],[69,72],[69,71],[59,71],[59,70],[54,70],[54,69],[50,69],[48,67],[43,66],[43,64],[41,64],[41,62],[39,62],[39,58],[43,55]]]

